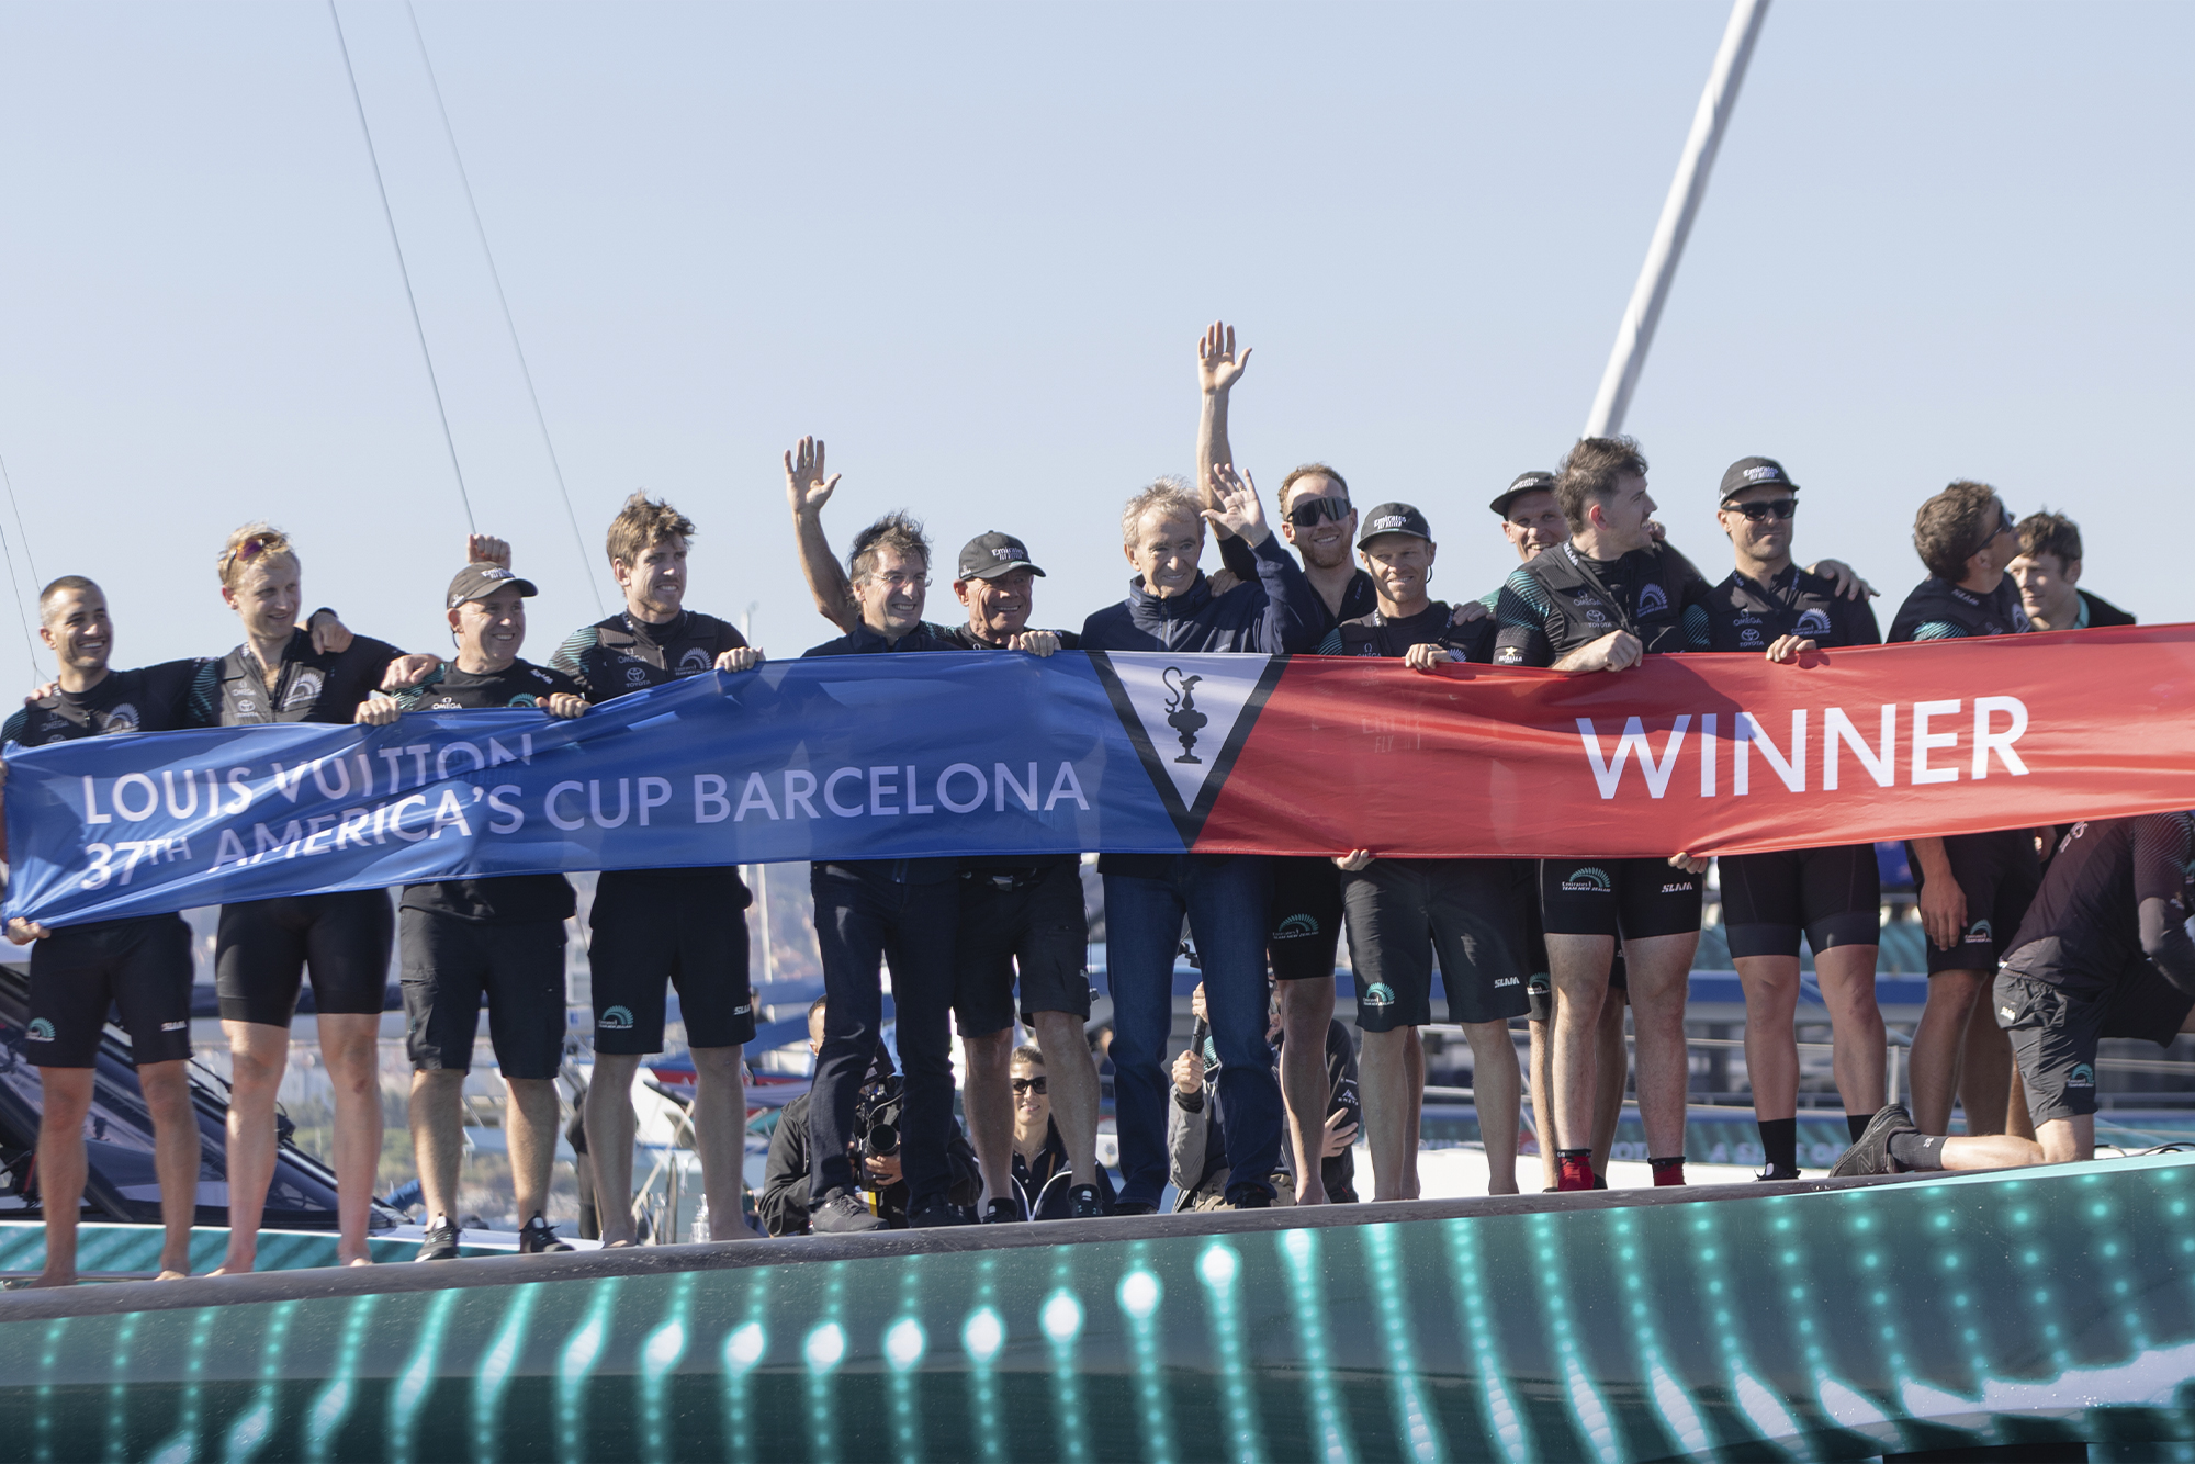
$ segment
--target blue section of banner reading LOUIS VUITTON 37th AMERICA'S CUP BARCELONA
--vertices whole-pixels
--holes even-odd
[[[564,722],[125,733],[7,764],[7,915],[48,926],[503,874],[1183,849],[1073,652],[786,661]]]

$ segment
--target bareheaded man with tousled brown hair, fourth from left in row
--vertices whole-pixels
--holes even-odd
[[[669,685],[705,672],[751,672],[762,652],[731,623],[685,608],[694,522],[648,494],[610,520],[606,553],[626,608],[571,632],[549,663],[588,702]],[[637,1245],[632,1223],[632,1078],[663,1051],[667,990],[694,1058],[694,1150],[711,1216],[740,1216],[746,1163],[746,1043],[755,1036],[746,906],[755,902],[733,865],[604,869],[588,911],[595,992],[595,1078],[586,1086],[586,1150],[604,1247]],[[733,1218],[718,1240],[755,1231]]]

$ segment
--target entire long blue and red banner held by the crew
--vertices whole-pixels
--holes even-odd
[[[843,656],[551,720],[9,751],[7,913],[558,869],[1051,852],[1664,856],[2195,808],[2195,628],[1607,674]]]

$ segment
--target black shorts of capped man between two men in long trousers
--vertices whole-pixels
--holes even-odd
[[[1091,1014],[1089,920],[1082,869],[1038,865],[1018,874],[966,869],[959,878],[953,948],[953,1021],[961,1036],[988,1036],[1036,1012]]]

